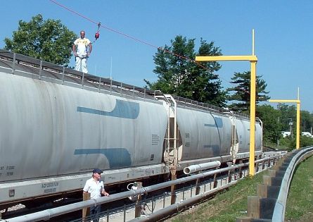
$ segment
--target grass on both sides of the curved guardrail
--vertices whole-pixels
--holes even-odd
[[[181,212],[167,221],[204,222],[236,221],[247,216],[248,196],[257,195],[257,185],[262,183],[267,171],[253,178],[245,178],[228,191],[219,193],[203,204]],[[305,160],[295,171],[286,206],[286,221],[313,221],[313,156]]]

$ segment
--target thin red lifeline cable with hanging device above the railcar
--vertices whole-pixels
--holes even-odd
[[[196,65],[200,66],[201,68],[204,68],[204,69],[208,70],[208,68],[206,68],[205,66],[202,66],[201,64],[199,64],[199,63],[197,63],[196,61],[192,60],[191,58],[188,58],[188,57],[185,57],[185,56],[181,56],[181,55],[179,55],[179,54],[175,54],[175,53],[173,53],[172,51],[168,51],[168,50],[166,50],[166,49],[162,49],[162,47],[157,47],[157,46],[155,46],[155,45],[153,45],[153,44],[150,44],[150,43],[148,43],[148,42],[145,42],[145,41],[143,41],[143,40],[136,39],[135,37],[132,37],[132,36],[127,35],[127,34],[124,34],[123,32],[120,32],[120,31],[117,31],[117,30],[113,30],[113,29],[110,28],[110,27],[106,27],[106,26],[104,26],[104,25],[101,25],[101,23],[96,23],[94,20],[91,20],[90,18],[87,18],[86,16],[83,16],[81,13],[77,13],[76,11],[73,11],[72,9],[70,9],[70,8],[68,8],[68,7],[66,7],[66,6],[63,6],[62,4],[58,3],[58,2],[55,1],[55,0],[49,0],[49,1],[52,1],[54,4],[57,4],[58,6],[60,6],[60,7],[62,7],[62,8],[65,8],[66,10],[68,10],[68,11],[70,11],[70,12],[72,12],[72,13],[75,13],[77,16],[80,16],[80,17],[82,17],[82,18],[84,18],[84,19],[86,19],[86,20],[89,20],[89,22],[91,22],[91,23],[95,23],[96,25],[98,25],[98,27],[101,26],[101,27],[103,27],[103,28],[106,28],[107,30],[110,30],[110,31],[112,31],[112,32],[116,32],[117,34],[120,34],[120,35],[123,35],[124,37],[128,37],[129,39],[133,39],[133,40],[135,40],[136,42],[141,42],[141,43],[146,44],[146,45],[148,45],[148,46],[150,46],[150,47],[154,47],[154,48],[156,48],[156,49],[160,49],[160,50],[165,51],[165,52],[167,52],[167,53],[173,54],[174,56],[177,56],[177,57],[179,57],[179,58],[184,58],[186,61],[191,61],[191,62],[193,62],[193,63],[196,63]],[[99,24],[100,24],[100,25],[99,25]],[[98,28],[98,29],[99,29],[99,28]],[[98,31],[96,32],[96,35],[97,35],[97,34],[98,34]],[[96,35],[95,35],[95,37],[96,37]],[[99,35],[99,34],[98,34],[98,35]],[[98,39],[98,38],[96,37],[96,39]],[[96,41],[96,40],[95,40],[95,41]]]

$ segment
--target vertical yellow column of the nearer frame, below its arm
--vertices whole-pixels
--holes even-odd
[[[256,88],[256,61],[251,63],[250,81],[250,156],[249,175],[255,175],[255,88]]]

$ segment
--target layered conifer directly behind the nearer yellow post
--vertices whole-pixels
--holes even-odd
[[[256,77],[256,97],[255,101],[258,104],[260,101],[267,101],[270,97],[267,96],[269,92],[265,91],[267,83],[261,79],[262,75]],[[229,106],[230,109],[239,112],[249,113],[250,110],[250,80],[251,73],[234,73],[234,77],[231,78],[231,83],[236,84],[235,87],[227,89],[228,92],[234,92],[229,95],[229,101],[238,101]]]

